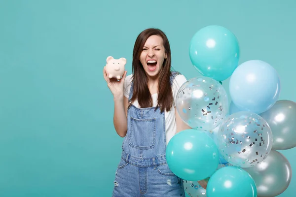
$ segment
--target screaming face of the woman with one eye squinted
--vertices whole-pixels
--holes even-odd
[[[157,76],[166,58],[162,38],[159,35],[148,37],[140,55],[140,62],[148,76]]]

